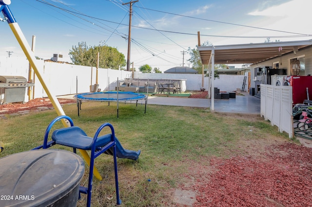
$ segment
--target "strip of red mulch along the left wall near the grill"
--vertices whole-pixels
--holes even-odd
[[[60,104],[76,103],[74,99],[58,99]],[[21,110],[37,110],[40,106],[53,107],[49,99],[33,99],[25,104],[2,104],[0,105],[0,114],[13,114]]]

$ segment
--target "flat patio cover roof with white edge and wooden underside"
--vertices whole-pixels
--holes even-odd
[[[312,45],[312,40],[197,47],[202,64],[209,64],[215,49],[215,64],[255,64]]]

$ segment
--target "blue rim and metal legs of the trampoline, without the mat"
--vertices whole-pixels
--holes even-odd
[[[86,98],[83,97],[83,95],[94,95],[94,94],[117,94],[117,99],[116,98]],[[119,99],[119,94],[131,94],[134,95],[134,98],[132,99],[124,99],[121,98]],[[137,97],[135,96],[137,95]],[[108,105],[110,102],[117,102],[117,118],[119,117],[119,102],[132,102],[132,101],[139,101],[139,100],[145,100],[145,109],[144,109],[144,114],[146,113],[146,104],[147,104],[147,95],[144,95],[142,93],[134,93],[134,92],[124,92],[124,91],[105,91],[105,92],[91,92],[91,93],[80,93],[76,94],[74,96],[77,101],[77,109],[78,109],[78,116],[79,116],[79,110],[81,110],[81,103],[82,101],[98,101],[98,102],[108,102]],[[137,104],[137,103],[136,103]]]

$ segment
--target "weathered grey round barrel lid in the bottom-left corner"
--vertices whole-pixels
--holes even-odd
[[[73,190],[84,174],[80,156],[56,149],[0,159],[0,206],[48,206]]]

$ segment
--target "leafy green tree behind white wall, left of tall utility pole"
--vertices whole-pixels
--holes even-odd
[[[71,60],[75,65],[97,66],[97,56],[99,52],[99,68],[119,69],[126,66],[124,54],[118,52],[116,48],[104,44],[98,46],[87,46],[86,42],[78,43],[69,52]]]

